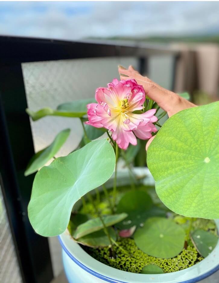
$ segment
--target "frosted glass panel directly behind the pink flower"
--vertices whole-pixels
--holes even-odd
[[[118,65],[138,67],[138,60],[126,58],[92,58],[23,63],[22,70],[28,107],[56,108],[60,103],[94,97],[97,87],[118,75]],[[45,117],[31,121],[35,151],[45,148],[62,129],[70,128],[71,135],[57,156],[65,155],[77,147],[82,137],[79,119]]]

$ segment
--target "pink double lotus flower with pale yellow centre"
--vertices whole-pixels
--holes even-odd
[[[144,88],[132,80],[118,81],[114,79],[108,88],[96,90],[95,98],[98,103],[87,105],[88,125],[96,128],[104,127],[112,132],[112,138],[118,146],[126,149],[129,143],[137,144],[137,139],[150,138],[151,132],[156,132],[153,122],[156,109],[142,114],[133,113],[142,110],[145,101]],[[135,135],[134,135],[135,134]]]

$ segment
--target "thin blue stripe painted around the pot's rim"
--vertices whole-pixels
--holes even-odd
[[[78,266],[80,266],[82,269],[84,269],[85,271],[87,271],[91,275],[94,275],[95,277],[100,278],[100,279],[105,280],[106,282],[110,282],[110,283],[128,283],[128,282],[125,282],[125,281],[118,281],[118,280],[115,281],[115,279],[113,279],[113,278],[109,278],[107,276],[104,276],[104,275],[97,273],[94,270],[88,268],[87,266],[82,264],[80,261],[78,261],[78,259],[76,259],[74,256],[72,256],[72,254],[65,247],[60,236],[58,236],[58,239],[59,239],[59,242],[60,242],[63,250],[65,251],[65,253],[67,253],[67,255],[70,257],[70,259],[72,259]],[[193,279],[181,281],[179,283],[195,283],[195,282],[198,282],[202,279],[209,277],[210,275],[214,274],[218,270],[219,270],[219,264],[217,266],[215,266],[213,269],[211,269],[210,271],[206,272],[205,274],[202,274],[202,275],[200,275],[196,278],[193,278]]]

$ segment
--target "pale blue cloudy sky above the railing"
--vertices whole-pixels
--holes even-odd
[[[219,34],[219,2],[0,2],[0,35],[79,40]]]

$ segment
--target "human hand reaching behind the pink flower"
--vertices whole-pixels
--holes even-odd
[[[181,110],[196,106],[173,91],[169,91],[161,87],[159,84],[156,84],[147,77],[143,77],[138,73],[138,71],[135,71],[132,66],[129,66],[128,69],[119,66],[119,74],[121,80],[135,79],[138,84],[142,85],[144,87],[145,94],[157,102],[158,106],[165,110],[169,117]],[[155,136],[148,140],[146,150],[154,138]]]

